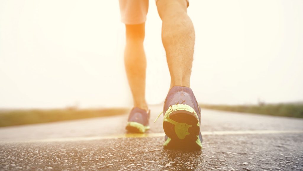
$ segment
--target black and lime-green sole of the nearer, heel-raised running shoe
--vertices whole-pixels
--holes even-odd
[[[163,129],[168,137],[163,144],[165,148],[202,148],[198,115],[189,105],[170,106],[164,115]]]

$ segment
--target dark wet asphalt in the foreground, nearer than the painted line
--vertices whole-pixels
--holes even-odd
[[[0,145],[3,170],[302,170],[303,134],[204,136],[201,151],[163,137]]]

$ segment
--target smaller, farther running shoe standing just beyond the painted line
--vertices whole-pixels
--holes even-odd
[[[140,108],[132,108],[128,116],[128,122],[126,125],[126,130],[131,133],[145,133],[146,130],[149,130],[149,113]]]

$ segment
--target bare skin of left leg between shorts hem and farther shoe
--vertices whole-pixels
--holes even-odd
[[[146,58],[143,48],[145,23],[125,24],[126,46],[124,53],[125,70],[132,91],[134,107],[148,110],[145,101]]]

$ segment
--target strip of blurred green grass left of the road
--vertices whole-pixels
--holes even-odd
[[[128,110],[126,108],[3,110],[0,111],[0,127],[122,115]]]

